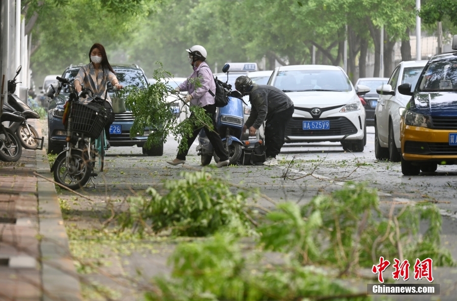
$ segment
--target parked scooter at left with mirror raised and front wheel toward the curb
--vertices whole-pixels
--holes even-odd
[[[33,109],[31,109],[26,103],[24,103],[17,95],[13,94],[16,91],[16,77],[21,72],[22,66],[19,66],[16,70],[16,76],[14,79],[8,81],[8,105],[10,105],[14,112],[9,111],[10,113],[17,114],[19,112],[20,115],[24,117],[22,122],[12,121],[9,125],[9,129],[11,129],[16,136],[19,137],[19,142],[21,143],[22,147],[25,149],[35,150],[39,146],[39,141],[41,140],[40,149],[43,149],[43,137],[39,137],[38,132],[33,128],[29,123],[27,123],[27,119],[39,119],[40,115]],[[3,107],[5,109],[5,107]]]

